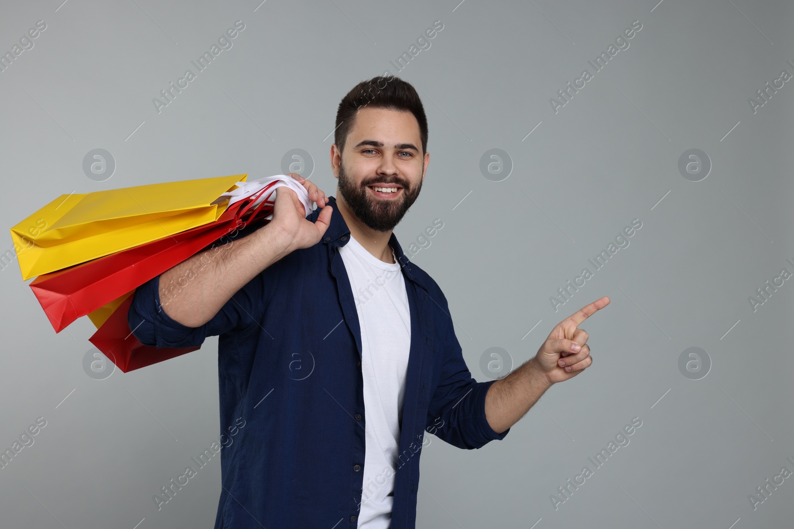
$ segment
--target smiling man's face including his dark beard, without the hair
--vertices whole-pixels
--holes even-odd
[[[338,160],[338,186],[353,214],[369,228],[390,232],[416,201],[430,159],[421,149],[414,114],[367,107],[358,111]]]

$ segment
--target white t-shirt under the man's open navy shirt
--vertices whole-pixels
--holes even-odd
[[[395,474],[410,351],[410,311],[396,255],[384,263],[350,237],[340,247],[361,328],[364,378],[364,487],[360,529],[387,529],[394,503]]]

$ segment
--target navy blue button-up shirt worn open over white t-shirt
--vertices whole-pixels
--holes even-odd
[[[185,327],[160,308],[159,278],[140,286],[130,306],[129,328],[146,345],[198,346],[219,336],[221,431],[237,430],[221,450],[215,529],[357,527],[365,442],[361,332],[339,253],[350,230],[333,197],[329,204],[320,242],[273,263],[201,327]],[[314,222],[319,212],[306,218]],[[416,519],[426,432],[472,449],[510,430],[497,434],[485,418],[494,381],[472,378],[441,289],[408,260],[394,233],[389,245],[410,307],[391,518],[391,529],[403,529]]]

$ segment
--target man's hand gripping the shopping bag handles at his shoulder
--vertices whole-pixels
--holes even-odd
[[[306,220],[306,209],[295,191],[288,186],[280,186],[276,190],[276,202],[273,205],[273,218],[270,221],[272,229],[277,229],[284,236],[287,253],[317,244],[328,229],[333,208],[327,205],[326,194],[318,186],[303,178],[300,174],[289,173],[309,193],[310,201],[317,202],[322,207],[315,222]]]

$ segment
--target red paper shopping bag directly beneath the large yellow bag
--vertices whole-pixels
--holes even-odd
[[[119,298],[125,293],[183,262],[211,243],[227,242],[223,240],[224,236],[254,221],[264,220],[272,213],[272,206],[268,205],[271,202],[268,192],[272,194],[275,186],[272,183],[245,200],[237,201],[215,222],[40,275],[30,283],[30,288],[56,332],[86,315],[99,327],[118,306],[121,302]],[[256,207],[253,207],[255,204]],[[114,300],[117,300],[117,305],[107,306]],[[104,312],[99,309],[104,309]],[[94,311],[98,312],[94,314]],[[103,313],[106,313],[104,318]]]

